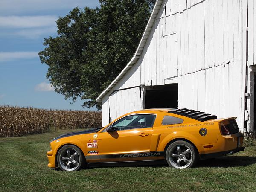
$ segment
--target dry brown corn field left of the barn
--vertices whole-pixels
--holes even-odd
[[[56,129],[97,127],[102,127],[102,115],[98,111],[0,106],[0,137],[39,134]]]

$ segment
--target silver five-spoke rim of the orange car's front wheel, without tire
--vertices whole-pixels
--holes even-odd
[[[79,152],[75,148],[66,148],[61,151],[58,158],[59,166],[66,171],[76,170],[81,160]]]

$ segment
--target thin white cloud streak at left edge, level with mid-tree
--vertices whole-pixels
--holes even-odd
[[[22,51],[22,52],[0,52],[0,62],[13,61],[17,59],[29,59],[38,57],[38,52]]]

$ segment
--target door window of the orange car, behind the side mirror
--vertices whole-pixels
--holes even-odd
[[[155,115],[137,114],[119,119],[113,123],[118,130],[153,127]]]

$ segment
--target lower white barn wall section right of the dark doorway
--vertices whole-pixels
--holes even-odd
[[[239,62],[178,77],[179,108],[238,117],[241,124],[241,65]]]

